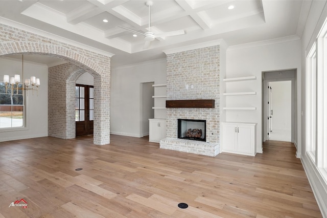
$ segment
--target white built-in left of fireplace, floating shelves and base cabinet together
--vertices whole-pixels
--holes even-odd
[[[153,84],[154,119],[149,119],[149,141],[159,142],[166,138],[166,84]]]

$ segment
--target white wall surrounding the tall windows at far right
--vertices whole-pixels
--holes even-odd
[[[326,1],[313,1],[309,11],[307,23],[305,29],[303,30],[302,40],[301,40],[301,60],[302,60],[302,69],[306,69],[306,55],[309,53],[314,40],[317,38],[318,32],[320,31],[325,19],[327,17],[327,6]],[[310,185],[315,194],[317,203],[319,205],[320,211],[323,217],[327,217],[327,182],[322,178],[320,172],[317,170],[317,167],[310,161],[310,158],[306,152],[306,73],[303,70],[301,73],[302,80],[302,92],[301,92],[301,126],[302,136],[301,141],[303,146],[301,147],[301,161],[307,173]]]

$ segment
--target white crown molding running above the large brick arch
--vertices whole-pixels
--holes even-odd
[[[101,54],[101,55],[104,55],[104,56],[112,57],[114,55],[114,54],[112,54],[110,52],[106,52],[106,51],[101,50],[101,49],[90,47],[90,46],[87,46],[87,45],[85,45],[83,43],[80,43],[80,42],[77,42],[77,41],[74,41],[74,40],[71,40],[71,39],[67,39],[67,38],[64,38],[64,37],[61,37],[61,36],[58,36],[58,35],[54,35],[52,33],[45,32],[43,30],[39,30],[39,29],[36,29],[34,27],[30,27],[30,26],[18,23],[16,21],[13,21],[13,20],[10,20],[10,19],[4,18],[4,17],[0,17],[0,24],[7,25],[7,26],[10,26],[10,27],[14,27],[14,28],[21,29],[21,30],[25,30],[25,31],[28,31],[28,32],[31,32],[31,33],[34,33],[34,34],[37,34],[37,35],[40,35],[40,36],[43,36],[43,37],[46,37],[46,38],[51,38],[51,39],[66,43],[68,45],[76,46],[78,48],[85,49],[85,50],[88,50],[88,51],[91,51],[91,52],[95,52],[95,53],[98,53],[98,54]]]

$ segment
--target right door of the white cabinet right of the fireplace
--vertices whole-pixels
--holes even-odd
[[[238,142],[237,151],[247,154],[254,154],[254,141],[252,135],[253,126],[250,125],[238,125]]]

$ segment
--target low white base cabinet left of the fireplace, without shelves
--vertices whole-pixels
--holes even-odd
[[[159,142],[166,138],[166,120],[149,119],[149,141]]]

